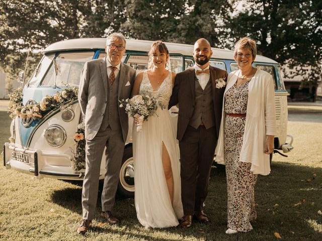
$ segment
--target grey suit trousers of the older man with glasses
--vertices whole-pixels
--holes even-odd
[[[83,218],[92,220],[96,212],[99,189],[100,167],[106,147],[106,174],[102,192],[102,211],[111,211],[119,181],[124,141],[121,130],[110,127],[99,131],[92,140],[86,140],[86,171],[83,182],[82,206]]]

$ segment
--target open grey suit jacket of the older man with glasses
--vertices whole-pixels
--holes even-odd
[[[81,82],[79,83],[78,102],[85,117],[85,137],[92,140],[98,133],[103,114],[107,106],[107,69],[106,57],[94,59],[85,63]],[[117,98],[126,99],[131,95],[135,79],[135,70],[127,64],[121,63],[119,72],[119,88]],[[124,142],[128,133],[128,116],[124,107],[118,106]]]

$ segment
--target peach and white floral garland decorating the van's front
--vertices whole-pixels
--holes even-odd
[[[14,119],[16,116],[21,118],[34,118],[41,119],[50,110],[57,107],[61,109],[68,108],[74,100],[77,99],[78,87],[65,88],[61,91],[57,91],[54,95],[46,95],[39,103],[23,104],[23,88],[19,87],[9,94],[10,103],[8,112],[10,117]],[[72,162],[72,168],[75,172],[83,172],[85,169],[85,126],[84,122],[77,126],[77,132],[74,136],[76,145],[76,152],[72,150],[73,157],[69,157]],[[14,142],[14,140],[10,140]]]

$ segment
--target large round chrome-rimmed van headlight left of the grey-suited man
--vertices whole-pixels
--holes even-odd
[[[52,125],[45,131],[45,140],[51,147],[61,147],[66,141],[66,132],[59,125]]]

